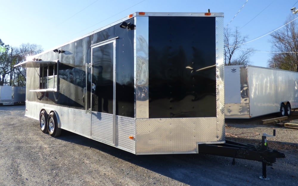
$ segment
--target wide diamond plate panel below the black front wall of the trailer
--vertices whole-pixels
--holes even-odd
[[[197,143],[217,141],[215,117],[136,119],[136,154],[195,153]]]

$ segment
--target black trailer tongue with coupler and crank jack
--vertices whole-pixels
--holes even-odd
[[[273,133],[275,136],[275,130]],[[260,179],[269,180],[266,166],[276,162],[276,158],[285,158],[285,154],[269,148],[266,136],[269,135],[263,134],[262,142],[258,145],[242,144],[229,140],[222,144],[199,144],[198,153],[232,157],[232,165],[235,165],[235,158],[262,162],[262,176],[260,176]]]

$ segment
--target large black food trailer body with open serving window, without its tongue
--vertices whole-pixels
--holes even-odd
[[[131,14],[16,65],[25,115],[134,154],[224,143],[223,38],[223,13]]]

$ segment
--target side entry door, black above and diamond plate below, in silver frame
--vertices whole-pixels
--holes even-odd
[[[93,45],[91,50],[91,137],[115,144],[116,40]]]

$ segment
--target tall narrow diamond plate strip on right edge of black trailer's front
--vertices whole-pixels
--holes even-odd
[[[216,110],[217,110],[217,138],[225,141],[224,122],[224,18],[215,18],[216,41]]]

